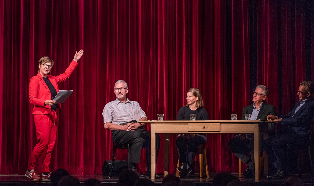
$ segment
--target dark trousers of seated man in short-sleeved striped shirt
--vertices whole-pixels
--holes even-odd
[[[135,131],[115,130],[112,141],[116,144],[130,144],[130,162],[139,163],[142,148],[146,148],[146,163],[149,168],[151,165],[150,157],[150,132],[144,128],[137,128]],[[160,137],[156,134],[157,156],[160,149]],[[157,159],[157,157],[156,157]]]

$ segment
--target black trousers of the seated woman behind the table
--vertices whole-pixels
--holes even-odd
[[[192,138],[187,138],[184,135],[180,135],[176,139],[176,146],[180,155],[180,162],[188,162],[188,153],[194,152],[197,153],[199,145],[205,145],[206,141],[200,135],[194,136]],[[194,155],[195,157],[195,155]],[[191,159],[194,159],[193,157]],[[192,162],[189,162],[192,163]]]

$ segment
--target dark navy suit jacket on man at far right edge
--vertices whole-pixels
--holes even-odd
[[[307,100],[295,113],[295,109],[300,104],[300,101],[298,101],[288,114],[278,116],[278,118],[282,118],[281,123],[288,127],[288,134],[291,137],[297,139],[300,144],[306,145],[310,140],[311,126],[314,119],[314,100],[313,98]]]

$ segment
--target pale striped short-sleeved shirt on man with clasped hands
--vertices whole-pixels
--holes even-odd
[[[118,98],[106,104],[102,115],[104,116],[104,124],[110,122],[116,125],[147,118],[138,102],[127,99],[127,102],[123,103],[119,101]]]

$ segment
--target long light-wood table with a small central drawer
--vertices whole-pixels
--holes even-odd
[[[141,121],[150,123],[150,143],[151,143],[151,163],[152,175],[155,179],[156,173],[156,136],[155,134],[165,134],[165,176],[169,171],[169,134],[203,134],[203,133],[254,133],[254,159],[255,159],[255,179],[259,180],[260,148],[259,124],[268,125],[268,120],[203,120],[203,121]]]

